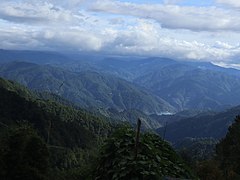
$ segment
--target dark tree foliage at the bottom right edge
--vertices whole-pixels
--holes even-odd
[[[239,154],[240,116],[237,116],[229,127],[226,137],[216,145],[216,157],[197,163],[196,173],[204,180],[239,180]]]

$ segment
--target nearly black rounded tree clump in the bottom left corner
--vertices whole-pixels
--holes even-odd
[[[50,167],[47,145],[31,127],[7,128],[1,134],[0,142],[4,179],[47,179]]]

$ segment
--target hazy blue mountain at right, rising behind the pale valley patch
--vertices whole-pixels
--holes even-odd
[[[187,64],[163,67],[138,77],[135,82],[178,110],[221,110],[240,101],[239,76]]]

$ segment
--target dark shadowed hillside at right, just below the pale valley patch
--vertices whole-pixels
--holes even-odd
[[[240,107],[237,106],[219,113],[202,113],[181,119],[167,125],[165,138],[171,142],[180,141],[185,137],[221,139],[226,135],[228,127],[239,113]],[[157,131],[162,135],[165,127]]]

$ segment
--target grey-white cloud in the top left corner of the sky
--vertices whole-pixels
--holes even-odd
[[[3,1],[0,3],[0,18],[29,24],[77,21],[77,17],[71,11],[41,1],[36,4],[27,1],[23,3]]]

